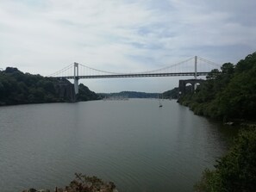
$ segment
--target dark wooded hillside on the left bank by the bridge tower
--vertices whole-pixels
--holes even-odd
[[[7,67],[0,71],[0,106],[42,102],[69,102],[60,96],[55,85],[59,80],[41,75],[23,73],[17,68]],[[70,84],[70,83],[69,83]],[[97,99],[97,94],[83,84],[79,85],[78,101]]]

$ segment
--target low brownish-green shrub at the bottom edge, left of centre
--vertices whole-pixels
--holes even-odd
[[[97,177],[87,177],[82,174],[75,174],[76,178],[65,188],[56,187],[49,189],[26,189],[22,192],[118,192],[116,185],[112,182],[103,182]]]

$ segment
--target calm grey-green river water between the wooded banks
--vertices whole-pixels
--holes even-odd
[[[192,191],[229,133],[175,101],[0,108],[0,191],[64,187],[75,172],[127,192]]]

